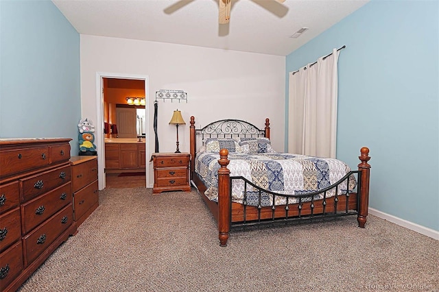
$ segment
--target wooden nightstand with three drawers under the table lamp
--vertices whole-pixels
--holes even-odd
[[[154,153],[154,188],[152,193],[163,191],[191,191],[189,185],[189,153]]]

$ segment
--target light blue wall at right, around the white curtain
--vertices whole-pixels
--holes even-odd
[[[288,80],[289,71],[346,45],[338,63],[337,158],[356,169],[359,149],[369,147],[370,207],[434,230],[438,14],[438,1],[371,1],[286,60]]]

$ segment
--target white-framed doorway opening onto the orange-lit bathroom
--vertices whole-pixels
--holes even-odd
[[[139,75],[118,75],[114,73],[97,73],[96,77],[97,119],[99,123],[102,124],[102,127],[97,127],[96,130],[98,138],[96,143],[98,156],[99,189],[106,188],[106,178],[108,173],[112,173],[112,176],[114,176],[114,173],[117,173],[119,170],[121,174],[128,173],[128,175],[118,175],[118,180],[126,179],[126,181],[129,182],[130,175],[143,172],[145,175],[142,176],[144,180],[143,185],[146,187],[152,187],[152,184],[148,182],[150,180],[150,167],[147,167],[147,165],[149,165],[147,157],[150,156],[150,151],[148,147],[148,137],[150,136],[148,124],[148,77]],[[141,84],[140,87],[139,84]],[[133,96],[143,97],[145,99],[145,106],[132,106],[128,104],[126,98]],[[134,118],[131,119],[132,127],[134,128],[134,131],[132,131],[132,138],[130,138],[132,139],[132,141],[119,140],[128,138],[121,138],[119,136],[119,133],[121,132],[121,130],[123,130],[121,129],[121,126],[123,125],[121,125],[117,119],[117,108],[134,108],[136,110],[134,112],[134,115],[132,115]],[[137,112],[139,112],[140,114],[136,114]],[[143,124],[140,126],[140,134],[138,131],[139,122],[137,116],[141,116],[143,118]],[[140,145],[140,149],[138,149],[138,152],[133,152],[131,154],[128,153],[128,149],[135,147],[136,144],[139,143],[139,141],[141,141],[140,143],[143,143],[143,145]],[[114,145],[108,147],[110,151],[106,149],[106,145],[108,145],[108,142],[114,143]],[[122,164],[119,164],[119,158],[116,158],[115,160],[112,160],[110,161],[110,163],[108,163],[108,159],[106,159],[106,156],[108,156],[107,158],[111,158],[116,154],[116,152],[120,154],[120,148],[119,150],[114,151],[115,145],[119,142],[130,144],[129,146],[126,145],[127,147],[123,146],[123,151],[121,153],[123,157]],[[139,147],[139,145],[137,145],[137,147]],[[117,161],[117,165],[115,165],[115,161]],[[135,162],[134,165],[133,161]],[[139,169],[142,167],[143,169],[139,171]],[[124,176],[126,176],[126,178],[124,178]],[[130,184],[127,183],[126,185],[128,186]]]

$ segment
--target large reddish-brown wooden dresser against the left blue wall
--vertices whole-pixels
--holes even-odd
[[[70,138],[0,139],[0,291],[15,291],[76,232]]]

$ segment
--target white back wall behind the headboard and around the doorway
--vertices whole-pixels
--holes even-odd
[[[149,77],[149,154],[154,152],[154,100],[160,89],[184,90],[188,96],[187,103],[158,101],[161,152],[176,149],[176,127],[168,123],[177,108],[187,123],[179,127],[180,151],[189,151],[192,115],[197,128],[226,118],[242,119],[263,128],[265,118],[269,118],[272,145],[283,151],[285,57],[88,35],[81,35],[80,43],[81,112],[82,117],[96,125],[97,73]],[[151,171],[148,182],[152,179]]]

